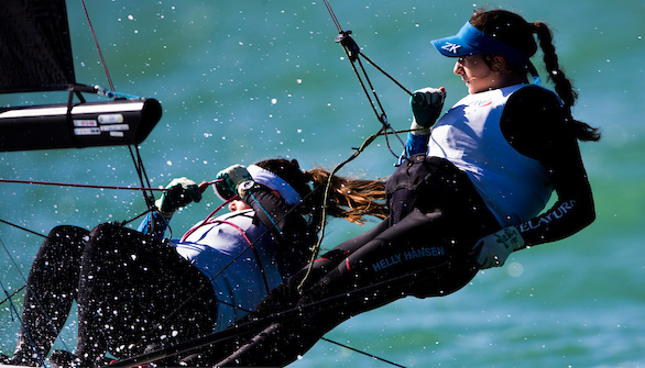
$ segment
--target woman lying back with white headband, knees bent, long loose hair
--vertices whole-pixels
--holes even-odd
[[[201,199],[186,178],[167,186],[140,231],[55,227],[32,265],[17,349],[3,363],[42,366],[75,300],[76,352],[54,352],[50,359],[59,367],[99,367],[110,360],[106,353],[125,358],[223,330],[309,260],[328,177],[319,168],[303,171],[295,159],[233,165],[218,174],[216,192],[233,199],[226,190],[233,180],[244,194],[229,203],[230,213],[206,219],[182,239],[164,233],[179,208]],[[327,214],[358,223],[384,218],[383,187],[336,177]],[[164,364],[208,363],[201,353]]]

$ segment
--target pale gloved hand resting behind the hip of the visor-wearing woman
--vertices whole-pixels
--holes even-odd
[[[481,269],[501,267],[512,252],[526,243],[515,226],[509,226],[479,239],[472,253]]]

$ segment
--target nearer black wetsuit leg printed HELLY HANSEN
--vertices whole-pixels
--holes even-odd
[[[356,314],[409,294],[445,295],[460,289],[477,268],[459,247],[428,236],[441,233],[441,220],[438,211],[415,210],[387,226],[305,290],[295,305],[297,314],[271,324],[219,365],[284,366]],[[297,283],[289,280],[288,287]]]

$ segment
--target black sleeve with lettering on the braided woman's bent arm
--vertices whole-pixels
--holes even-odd
[[[568,133],[556,96],[539,87],[521,89],[509,99],[501,124],[515,149],[544,165],[557,194],[550,209],[517,226],[526,246],[565,238],[593,222],[593,197],[578,140]]]

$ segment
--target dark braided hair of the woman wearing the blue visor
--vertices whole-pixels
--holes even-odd
[[[528,57],[537,52],[537,43],[533,36],[536,34],[539,47],[544,53],[543,60],[548,78],[554,82],[556,93],[562,99],[568,115],[567,127],[580,141],[597,142],[600,140],[598,129],[571,118],[571,108],[578,99],[578,93],[558,63],[553,33],[546,23],[528,23],[521,15],[510,11],[485,11],[484,9],[475,10],[470,18],[470,23],[487,35],[520,49]],[[526,66],[511,66],[510,70],[525,74],[527,69]]]

